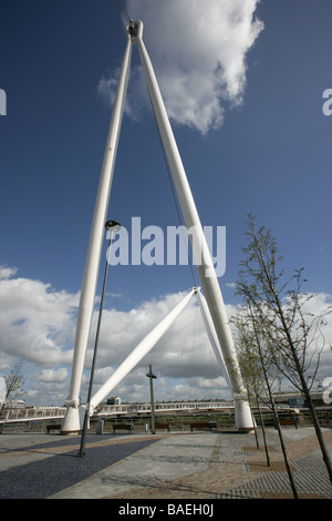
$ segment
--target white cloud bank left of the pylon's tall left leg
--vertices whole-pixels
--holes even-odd
[[[15,273],[14,268],[0,268],[1,372],[8,372],[23,358],[28,388],[30,379],[54,384],[62,379],[63,387],[68,387],[69,372],[61,367],[72,362],[79,295],[56,292],[40,280],[14,277]],[[40,385],[39,389],[39,398],[44,401],[44,389]],[[29,388],[29,394],[35,395],[32,391]]]

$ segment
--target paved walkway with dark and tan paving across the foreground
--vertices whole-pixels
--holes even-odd
[[[300,498],[332,499],[312,427],[283,429]],[[332,453],[332,429],[323,429]],[[0,436],[0,498],[283,499],[292,498],[280,442],[268,429],[270,467],[255,435],[237,432]]]

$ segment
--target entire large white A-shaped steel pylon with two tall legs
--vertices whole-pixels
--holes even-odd
[[[127,44],[121,69],[117,92],[114,101],[110,131],[105,147],[104,161],[101,172],[98,191],[95,202],[94,216],[91,227],[90,242],[82,283],[74,357],[71,376],[70,396],[66,400],[66,413],[62,425],[62,432],[76,432],[82,428],[82,406],[80,389],[83,376],[84,360],[87,347],[89,331],[92,320],[96,283],[100,268],[101,251],[103,244],[104,224],[113,180],[116,150],[123,116],[124,102],[127,90],[131,55],[133,44],[137,44],[145,74],[151,101],[157,121],[159,134],[167,155],[173,175],[176,193],[187,228],[190,228],[191,245],[207,308],[214,325],[218,344],[222,350],[225,364],[229,375],[229,382],[235,399],[236,426],[243,431],[253,428],[251,412],[247,400],[247,392],[242,384],[238,359],[226,315],[221,290],[214,268],[211,255],[203,232],[198,212],[186,176],[186,172],[177,149],[173,130],[167,116],[159,86],[151,63],[147,50],[143,42],[143,22],[133,21],[126,28]]]

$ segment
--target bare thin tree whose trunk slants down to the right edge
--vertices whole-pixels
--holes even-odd
[[[331,460],[310,394],[324,348],[322,328],[331,309],[322,315],[305,311],[311,295],[301,290],[305,282],[303,268],[284,280],[276,238],[264,226],[257,229],[251,214],[246,236],[247,247],[242,248],[246,256],[240,263],[237,294],[250,304],[259,335],[273,362],[302,394],[332,482]]]

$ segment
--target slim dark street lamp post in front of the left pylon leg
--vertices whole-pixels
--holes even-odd
[[[90,401],[91,401],[93,379],[94,379],[94,368],[95,368],[98,338],[100,338],[100,329],[101,329],[101,323],[102,323],[104,295],[105,295],[106,279],[107,279],[107,273],[108,273],[108,264],[110,264],[110,256],[111,256],[111,246],[112,246],[113,232],[118,232],[120,228],[121,228],[121,224],[117,223],[116,221],[107,221],[106,224],[105,224],[105,229],[107,232],[110,232],[110,246],[108,246],[106,266],[105,266],[105,273],[104,273],[104,282],[103,282],[102,298],[101,298],[100,313],[98,313],[98,321],[97,321],[97,328],[96,328],[96,334],[95,334],[94,350],[93,350],[91,375],[90,375],[90,382],[89,382],[89,391],[87,391],[85,415],[84,415],[84,421],[83,421],[83,428],[82,428],[81,446],[80,446],[80,452],[77,454],[81,458],[84,456],[85,439],[86,439],[86,431],[87,431],[87,425],[89,425]]]

